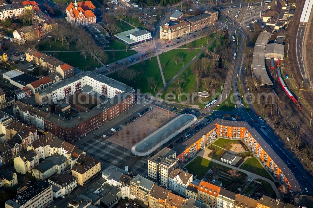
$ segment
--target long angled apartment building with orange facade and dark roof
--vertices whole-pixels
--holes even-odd
[[[246,121],[213,120],[194,136],[173,147],[173,150],[177,152],[178,162],[183,163],[192,159],[199,150],[219,137],[243,140],[279,181],[280,185],[285,185],[294,192],[300,191],[298,181],[285,162],[280,159],[259,132]]]

